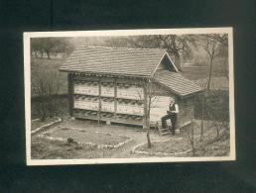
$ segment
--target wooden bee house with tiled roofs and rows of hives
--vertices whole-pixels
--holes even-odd
[[[75,118],[146,126],[166,115],[170,97],[180,113],[177,128],[191,123],[201,88],[182,76],[165,49],[78,47],[66,59],[69,114]]]

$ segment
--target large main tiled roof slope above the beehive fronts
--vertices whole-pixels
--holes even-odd
[[[78,47],[62,65],[62,71],[151,76],[166,49]]]

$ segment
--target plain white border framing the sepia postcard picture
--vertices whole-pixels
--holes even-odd
[[[230,154],[214,157],[149,157],[149,158],[94,158],[94,159],[32,159],[31,158],[31,58],[30,39],[46,37],[117,37],[139,35],[182,35],[182,34],[228,34],[229,61],[229,118]],[[234,113],[234,71],[233,71],[233,29],[194,28],[194,29],[141,29],[141,30],[104,30],[68,32],[25,32],[24,33],[24,85],[25,85],[25,123],[26,123],[26,160],[27,165],[65,165],[65,164],[109,164],[109,163],[154,163],[190,161],[231,161],[236,159],[235,151],[235,113]]]

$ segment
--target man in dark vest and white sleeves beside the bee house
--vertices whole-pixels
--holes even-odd
[[[172,123],[172,133],[175,135],[176,130],[176,122],[177,122],[177,115],[179,113],[179,106],[175,103],[175,99],[171,98],[171,103],[169,106],[169,111],[167,111],[167,115],[162,117],[162,127],[167,128],[167,120],[170,119]]]

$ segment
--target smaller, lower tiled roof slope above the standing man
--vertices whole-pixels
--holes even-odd
[[[182,97],[202,91],[199,85],[185,78],[181,73],[159,70],[154,74],[154,79]]]

